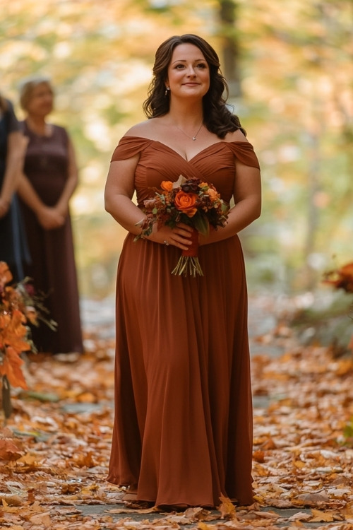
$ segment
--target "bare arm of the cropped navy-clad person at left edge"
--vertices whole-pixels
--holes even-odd
[[[18,186],[27,144],[28,139],[20,131],[13,131],[8,134],[5,175],[0,191],[0,218],[6,215],[11,204],[13,192],[16,191]]]

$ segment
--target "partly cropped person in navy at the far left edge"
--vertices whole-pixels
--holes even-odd
[[[0,94],[0,260],[6,261],[14,281],[23,279],[23,263],[30,259],[14,194],[26,144],[12,103]]]

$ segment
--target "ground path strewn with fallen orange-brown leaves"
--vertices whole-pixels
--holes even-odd
[[[107,483],[114,308],[83,304],[85,355],[30,357],[0,430],[0,527],[11,530],[353,530],[352,359],[304,347],[275,298],[251,300],[256,502],[213,512],[131,512]],[[350,444],[349,444],[350,442]]]

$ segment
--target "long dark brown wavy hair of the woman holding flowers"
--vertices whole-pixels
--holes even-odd
[[[169,93],[165,95],[168,66],[174,48],[185,43],[192,44],[201,50],[210,69],[210,88],[208,93],[203,96],[203,123],[210,132],[217,134],[219,138],[225,138],[228,132],[237,131],[237,129],[246,135],[246,131],[241,127],[239,117],[232,114],[226,105],[228,85],[220,72],[220,60],[215,50],[202,37],[191,33],[169,37],[158,47],[148,98],[143,103],[146,116],[156,118],[169,112]]]

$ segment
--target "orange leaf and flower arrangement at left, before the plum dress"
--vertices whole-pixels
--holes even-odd
[[[39,320],[42,320],[52,329],[56,327],[54,321],[44,318],[43,313],[47,309],[42,305],[42,297],[35,295],[29,283],[30,278],[8,285],[12,279],[8,265],[5,261],[0,261],[0,376],[3,397],[7,393],[8,403],[10,385],[27,389],[21,353],[37,351],[30,338],[28,323],[37,326]],[[8,416],[9,414],[6,417]]]

